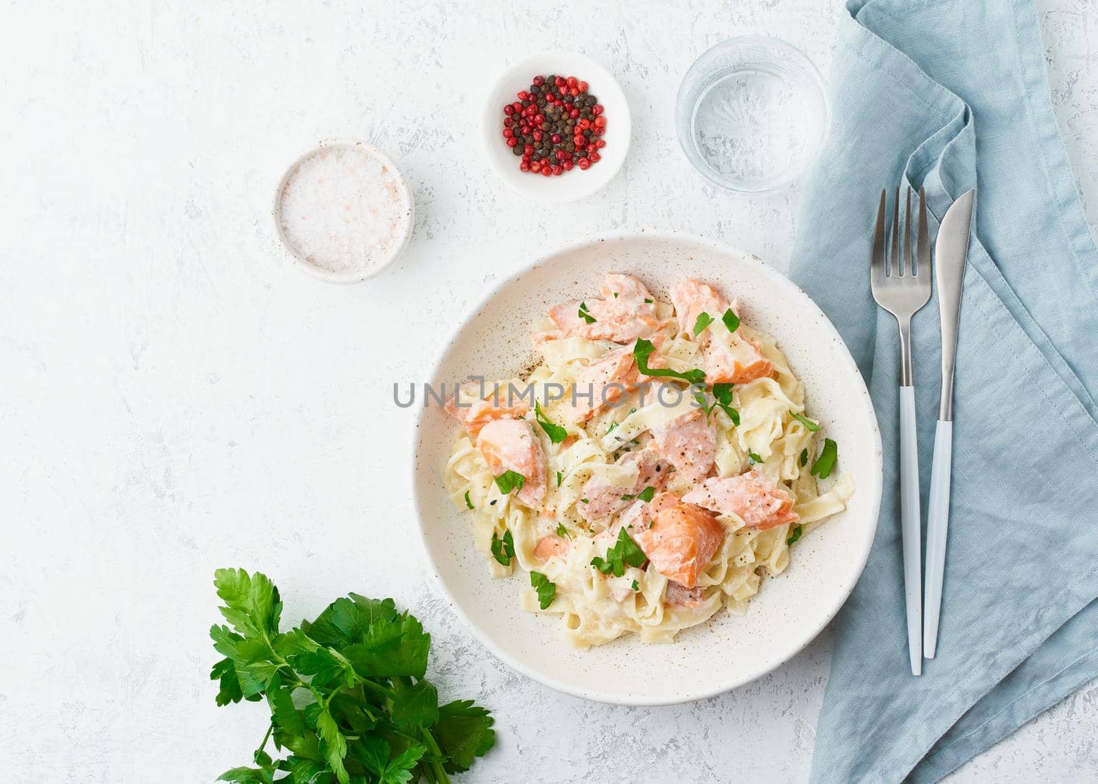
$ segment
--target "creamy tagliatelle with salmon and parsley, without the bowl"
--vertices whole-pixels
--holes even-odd
[[[542,361],[525,379],[468,393],[491,401],[514,384],[497,418],[471,423],[460,395],[451,403],[467,430],[445,481],[492,576],[522,574],[522,607],[558,616],[572,645],[670,642],[721,608],[746,613],[795,542],[844,508],[853,480],[830,478],[836,445],[821,452],[774,339],[714,289],[685,281],[669,303],[607,276],[603,296],[598,334],[618,339],[585,336],[587,310],[564,303],[537,325]],[[701,372],[699,384],[681,378]],[[518,394],[536,408],[513,405]]]

